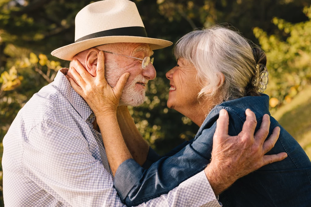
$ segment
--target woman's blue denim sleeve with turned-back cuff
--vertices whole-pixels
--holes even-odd
[[[114,177],[114,187],[122,201],[128,206],[141,204],[166,194],[181,182],[201,172],[211,159],[213,136],[220,110],[221,108],[216,109],[209,114],[211,121],[204,122],[205,125],[202,125],[204,129],[199,130],[193,143],[172,156],[162,157],[149,169],[142,168],[132,159],[124,161]],[[230,117],[231,131],[233,121]]]

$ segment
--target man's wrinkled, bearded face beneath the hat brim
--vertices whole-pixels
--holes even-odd
[[[145,43],[114,43],[111,45],[113,46],[111,49],[105,47],[103,50],[140,59],[153,54],[149,45]],[[114,87],[122,74],[130,73],[119,105],[141,105],[145,100],[148,80],[156,77],[156,70],[153,65],[149,63],[145,69],[142,69],[142,61],[140,60],[110,53],[104,54],[105,77],[110,86]]]

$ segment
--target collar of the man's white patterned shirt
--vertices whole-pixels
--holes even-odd
[[[53,85],[59,89],[64,97],[70,102],[72,107],[78,112],[83,120],[89,118],[92,114],[90,106],[84,101],[84,99],[71,87],[67,75],[68,69],[62,68],[58,70],[57,75],[55,76]]]

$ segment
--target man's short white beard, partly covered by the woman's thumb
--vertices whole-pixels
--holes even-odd
[[[118,64],[114,61],[107,61],[105,64],[105,78],[111,87],[114,87],[122,75]],[[148,80],[142,74],[137,75],[131,82],[127,82],[119,101],[119,106],[140,106],[145,101],[146,88],[137,89],[136,83],[147,83]],[[147,87],[147,85],[146,85]]]

